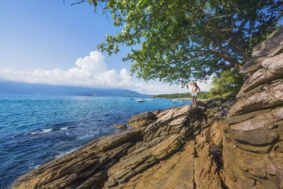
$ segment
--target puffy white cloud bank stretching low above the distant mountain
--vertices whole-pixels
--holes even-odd
[[[76,60],[76,67],[67,71],[54,69],[47,71],[35,69],[35,71],[15,71],[13,69],[0,69],[0,79],[9,81],[21,81],[36,84],[52,84],[64,86],[88,86],[97,88],[128,88],[140,93],[185,93],[190,91],[180,86],[168,86],[160,82],[144,81],[135,82],[127,69],[117,72],[108,70],[105,56],[98,51],[93,51],[89,56]],[[199,84],[202,91],[209,91],[208,84]]]

